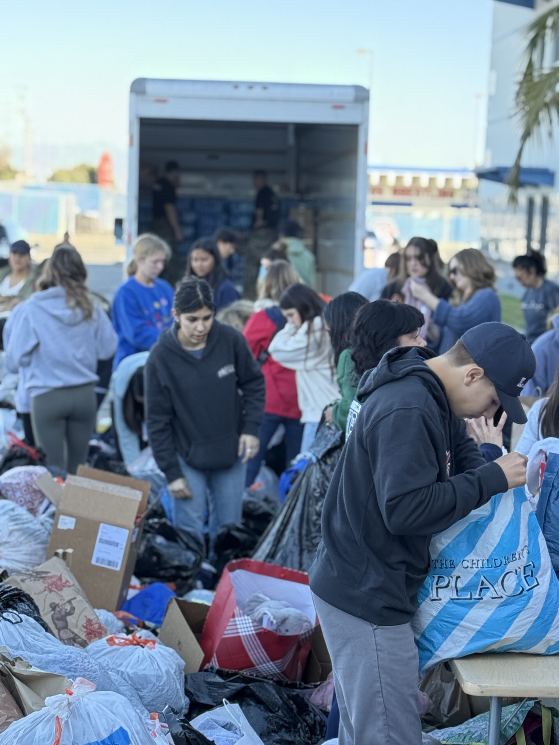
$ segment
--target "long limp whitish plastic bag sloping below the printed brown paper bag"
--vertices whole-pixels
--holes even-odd
[[[71,680],[86,678],[95,683],[98,691],[114,691],[127,698],[142,714],[142,706],[135,688],[118,673],[92,659],[86,650],[69,647],[48,634],[37,621],[12,611],[0,615],[0,647],[7,647],[12,657],[21,657],[45,673],[66,675]]]

